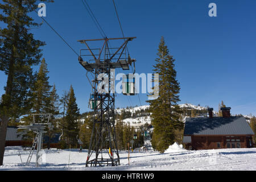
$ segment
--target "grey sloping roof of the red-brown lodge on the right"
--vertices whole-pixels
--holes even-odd
[[[254,135],[254,132],[244,117],[187,118],[185,135]]]

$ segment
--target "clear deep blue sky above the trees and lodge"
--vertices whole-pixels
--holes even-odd
[[[109,38],[122,37],[112,0],[87,0]],[[216,3],[217,17],[209,17],[209,3]],[[137,73],[151,73],[160,37],[164,36],[180,82],[180,104],[209,105],[218,110],[221,100],[232,114],[256,115],[256,1],[217,0],[119,0],[115,1],[131,57],[137,59]],[[32,13],[36,22],[42,20]],[[46,20],[79,52],[80,39],[101,38],[81,0],[47,3]],[[4,27],[3,23],[0,23]],[[88,111],[91,92],[86,71],[77,56],[47,24],[33,29],[43,40],[49,81],[58,93],[73,85],[81,112]],[[100,47],[101,45],[98,45]],[[35,68],[35,70],[38,67]],[[119,71],[121,72],[121,70]],[[0,72],[0,94],[6,76]],[[139,95],[146,105],[146,94]],[[118,94],[116,107],[140,105],[138,96]]]

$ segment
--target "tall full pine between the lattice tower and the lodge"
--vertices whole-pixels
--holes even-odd
[[[164,152],[174,143],[175,129],[183,127],[180,121],[181,110],[179,102],[180,86],[176,80],[176,71],[173,56],[162,37],[158,49],[158,58],[154,66],[154,73],[159,74],[159,97],[150,103],[150,112],[154,133],[152,136],[152,147]]]

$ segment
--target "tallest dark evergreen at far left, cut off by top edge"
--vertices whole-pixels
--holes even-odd
[[[53,2],[42,0],[41,2]],[[34,76],[32,66],[38,65],[41,46],[44,42],[35,40],[29,32],[31,27],[39,27],[28,14],[36,10],[35,0],[2,0],[0,3],[0,21],[6,28],[0,28],[1,51],[0,71],[7,75],[5,94],[0,104],[0,166],[3,165],[7,125],[12,118],[19,118],[30,110],[31,83]]]

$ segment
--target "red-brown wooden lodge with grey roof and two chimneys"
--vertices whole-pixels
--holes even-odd
[[[208,109],[209,118],[187,118],[183,143],[188,150],[220,148],[251,148],[255,135],[244,117],[232,117],[230,107],[222,107],[223,117],[213,117],[213,108]]]

